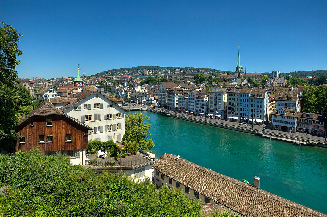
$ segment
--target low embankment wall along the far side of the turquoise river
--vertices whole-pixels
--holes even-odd
[[[157,114],[164,115],[164,116],[178,118],[181,120],[191,121],[191,122],[195,122],[195,123],[199,123],[199,124],[205,124],[205,125],[209,125],[209,126],[213,126],[213,127],[220,127],[220,128],[229,129],[229,130],[247,132],[247,133],[257,135],[257,136],[262,136],[263,138],[276,139],[276,140],[280,140],[282,142],[290,142],[290,143],[297,144],[297,145],[309,145],[309,146],[319,146],[319,147],[327,148],[327,144],[317,142],[317,140],[313,141],[313,140],[305,139],[305,138],[294,138],[293,139],[293,138],[290,138],[283,134],[280,134],[278,131],[274,132],[274,133],[268,133],[268,132],[263,133],[257,129],[251,130],[251,129],[247,129],[246,127],[241,126],[241,125],[236,127],[236,126],[229,125],[228,123],[225,123],[225,124],[212,123],[210,121],[201,120],[199,118],[195,119],[195,118],[189,118],[189,116],[183,117],[183,116],[174,115],[173,113],[166,113],[166,112],[163,113],[162,110],[147,108],[146,111],[150,111],[150,112],[157,113]],[[208,120],[210,120],[210,119],[208,119]]]

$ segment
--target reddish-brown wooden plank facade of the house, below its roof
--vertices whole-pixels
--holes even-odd
[[[48,123],[49,126],[47,126],[47,120],[52,120],[52,125]],[[42,151],[88,148],[88,128],[63,114],[31,116],[18,125],[16,130],[21,136],[25,136],[25,142],[20,143],[17,139],[15,151],[27,152],[34,146],[39,146]],[[71,135],[71,141],[66,140],[67,134]],[[40,135],[44,136],[44,142],[40,142]],[[47,141],[48,135],[52,135],[52,142]]]

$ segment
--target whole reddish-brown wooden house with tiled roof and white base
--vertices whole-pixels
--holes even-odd
[[[44,101],[16,128],[22,136],[17,139],[15,151],[29,151],[39,146],[44,154],[64,153],[73,164],[85,164],[85,150],[88,148],[88,133],[92,128],[74,119],[48,101]]]

